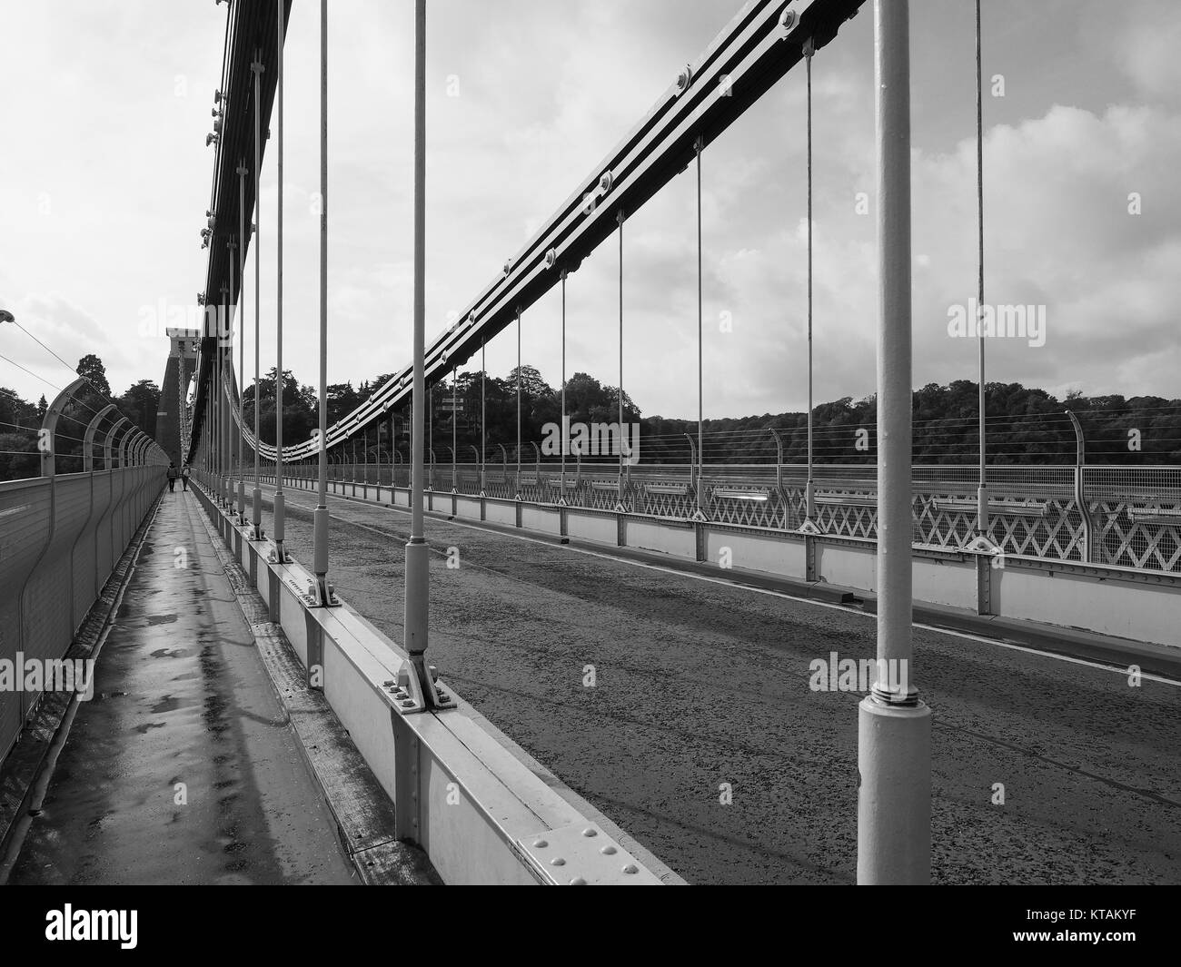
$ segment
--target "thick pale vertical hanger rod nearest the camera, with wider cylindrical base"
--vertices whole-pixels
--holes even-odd
[[[874,2],[877,675],[859,706],[857,882],[931,881],[931,710],[912,674],[909,0]]]

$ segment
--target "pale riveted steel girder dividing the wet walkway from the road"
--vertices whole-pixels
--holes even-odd
[[[246,540],[202,486],[194,490],[305,668],[319,671],[325,698],[393,801],[399,838],[417,842],[445,883],[684,882],[465,714],[462,700],[459,708],[403,714],[393,686],[412,672],[398,646],[347,605],[308,607],[311,575],[295,562],[270,563],[268,542]],[[450,495],[436,497],[450,504]],[[559,856],[565,862],[547,861]]]

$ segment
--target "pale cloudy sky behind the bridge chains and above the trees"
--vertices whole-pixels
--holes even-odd
[[[737,13],[739,0],[430,0],[428,337],[450,325]],[[412,320],[412,4],[329,2],[331,383],[406,365]],[[912,0],[915,386],[977,378],[948,332],[977,286],[972,0]],[[161,306],[204,285],[226,7],[159,0],[6,4],[0,90],[0,307],[112,388],[159,383]],[[986,302],[1036,307],[1042,340],[987,341],[987,379],[1059,397],[1181,396],[1181,5],[984,5]],[[319,4],[285,48],[285,366],[317,368]],[[873,5],[817,52],[814,91],[816,401],[875,390]],[[807,405],[802,70],[703,156],[706,418]],[[274,130],[276,122],[272,120]],[[274,365],[274,142],[262,170],[261,370]],[[625,229],[625,390],[645,416],[696,418],[693,168]],[[859,201],[861,204],[859,204]],[[618,249],[568,280],[567,374],[618,379]],[[557,289],[526,314],[523,361],[561,380]],[[1040,341],[1042,345],[1031,345]],[[70,379],[11,325],[0,354]],[[235,353],[236,358],[236,353]],[[516,365],[505,331],[488,371]],[[478,357],[470,367],[479,366]],[[0,385],[46,383],[0,360]]]

